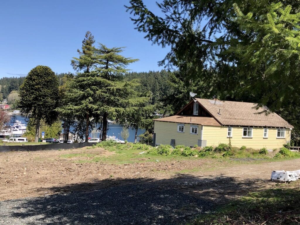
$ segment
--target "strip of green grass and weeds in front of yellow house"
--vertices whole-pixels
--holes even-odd
[[[111,154],[90,153],[88,149],[104,148]],[[109,164],[130,164],[138,162],[162,162],[162,161],[182,161],[182,160],[199,160],[199,158],[210,159],[210,161],[217,161],[219,164],[234,165],[244,163],[262,163],[266,161],[279,161],[293,158],[300,158],[300,154],[291,153],[291,155],[280,155],[274,158],[274,154],[259,154],[259,150],[232,150],[230,156],[224,152],[203,152],[196,149],[183,147],[182,149],[169,149],[169,146],[162,146],[162,148],[155,148],[145,144],[117,144],[112,142],[102,142],[97,146],[88,147],[84,152],[79,154],[63,154],[61,158],[74,158],[77,163],[109,163]],[[176,151],[175,151],[176,150]],[[143,154],[140,154],[144,152]],[[148,153],[147,153],[148,152]],[[205,154],[203,154],[205,153]],[[190,155],[189,155],[190,154]],[[196,156],[192,156],[198,154]],[[185,156],[188,155],[188,156]],[[180,171],[182,173],[189,173],[199,171],[200,168],[194,167],[189,170]]]

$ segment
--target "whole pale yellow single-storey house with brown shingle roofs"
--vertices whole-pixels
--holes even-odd
[[[266,112],[266,113],[265,113]],[[154,120],[156,145],[280,148],[294,128],[267,107],[248,102],[195,98],[175,116]]]

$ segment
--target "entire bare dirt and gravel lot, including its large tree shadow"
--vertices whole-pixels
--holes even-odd
[[[67,154],[73,157],[61,157]],[[0,224],[184,224],[228,199],[274,187],[269,181],[272,170],[300,165],[300,159],[80,163],[76,154],[88,160],[91,154],[114,153],[1,153]]]

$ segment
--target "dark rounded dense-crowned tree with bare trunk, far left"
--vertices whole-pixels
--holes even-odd
[[[58,79],[47,66],[30,70],[19,89],[18,106],[23,116],[29,117],[35,125],[35,142],[38,142],[40,122],[51,125],[58,114]]]

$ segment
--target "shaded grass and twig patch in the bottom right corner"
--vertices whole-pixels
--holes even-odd
[[[214,212],[200,215],[190,225],[299,224],[300,182],[249,193]]]

